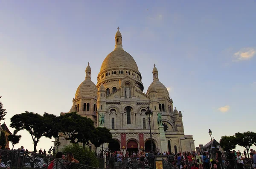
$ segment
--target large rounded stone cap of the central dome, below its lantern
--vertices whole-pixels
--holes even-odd
[[[117,49],[108,54],[102,62],[100,72],[118,68],[131,69],[139,73],[138,66],[133,57],[122,49]]]

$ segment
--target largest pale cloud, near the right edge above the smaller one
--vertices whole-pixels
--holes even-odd
[[[241,60],[249,60],[256,55],[255,48],[242,48],[240,51],[236,52],[233,57],[234,61],[241,61]]]

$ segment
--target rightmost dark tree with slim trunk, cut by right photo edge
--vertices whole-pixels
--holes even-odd
[[[237,132],[236,134],[236,142],[239,146],[243,146],[247,154],[249,154],[250,146],[253,144],[256,146],[256,133],[255,132]]]

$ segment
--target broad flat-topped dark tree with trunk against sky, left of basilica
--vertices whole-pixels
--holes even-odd
[[[11,118],[10,127],[15,128],[15,132],[20,130],[27,130],[34,142],[34,152],[36,152],[36,146],[41,137],[52,138],[57,137],[57,127],[55,122],[57,121],[55,115],[39,115],[37,113],[25,111],[25,113],[16,114]]]

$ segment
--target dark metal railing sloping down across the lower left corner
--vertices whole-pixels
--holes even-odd
[[[0,168],[52,168],[52,169],[99,169],[79,163],[53,158],[52,155],[39,155],[22,150],[0,150]]]

